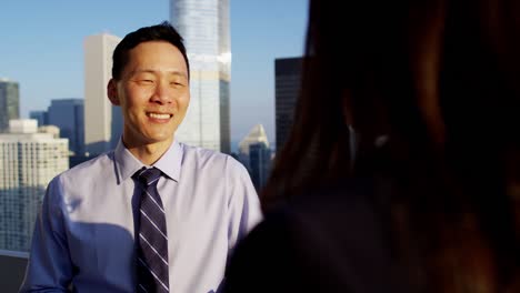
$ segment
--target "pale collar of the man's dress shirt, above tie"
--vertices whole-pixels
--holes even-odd
[[[173,140],[166,153],[153,164],[161,170],[167,176],[174,181],[179,181],[180,169],[182,162],[183,150],[177,140]],[[119,139],[114,150],[114,161],[119,171],[119,181],[122,182],[132,176],[144,164],[139,161],[133,154],[124,148],[122,140]],[[120,183],[118,182],[118,183]]]

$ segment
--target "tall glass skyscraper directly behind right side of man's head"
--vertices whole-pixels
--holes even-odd
[[[190,60],[191,101],[176,138],[229,153],[229,0],[170,0],[170,20],[184,39]]]

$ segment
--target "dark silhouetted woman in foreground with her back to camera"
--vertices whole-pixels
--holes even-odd
[[[310,0],[292,132],[224,291],[520,292],[519,9]]]

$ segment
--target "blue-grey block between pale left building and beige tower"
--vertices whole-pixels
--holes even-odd
[[[51,100],[48,124],[60,129],[60,137],[69,140],[69,150],[74,154],[84,153],[83,99]]]

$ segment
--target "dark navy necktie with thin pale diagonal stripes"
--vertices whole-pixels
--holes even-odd
[[[144,166],[134,174],[142,189],[137,250],[138,292],[169,292],[168,234],[164,209],[157,191],[161,174],[157,168]]]

